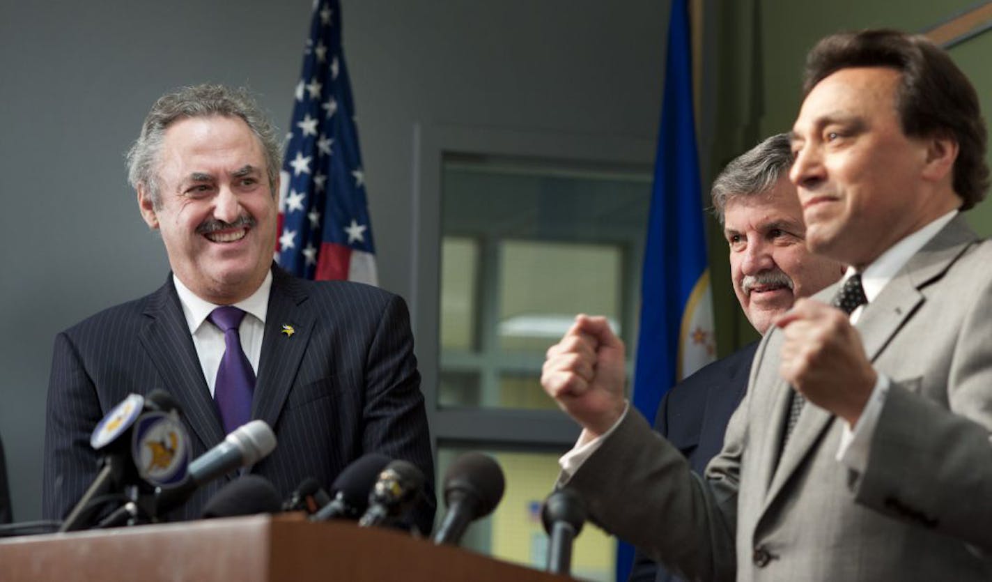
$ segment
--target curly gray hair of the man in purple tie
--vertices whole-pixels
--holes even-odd
[[[158,177],[159,154],[166,130],[178,119],[222,115],[240,117],[258,137],[265,152],[269,188],[276,196],[276,181],[283,165],[276,128],[262,113],[258,103],[244,88],[221,84],[198,84],[163,95],[152,105],[141,126],[141,135],[127,153],[127,177],[134,189],[144,184],[154,208],[161,208],[161,185]]]

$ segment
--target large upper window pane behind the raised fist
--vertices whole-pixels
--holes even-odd
[[[538,379],[576,313],[634,354],[650,176],[446,155],[441,170],[441,407],[551,409]]]

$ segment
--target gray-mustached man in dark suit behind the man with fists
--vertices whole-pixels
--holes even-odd
[[[734,159],[713,181],[711,197],[730,249],[730,276],[744,315],[759,334],[798,297],[836,282],[844,267],[806,249],[806,226],[796,187],[789,182],[793,155],[780,133]],[[662,399],[655,429],[702,475],[723,447],[730,415],[744,397],[758,344],[702,367]],[[638,552],[630,580],[679,580]]]

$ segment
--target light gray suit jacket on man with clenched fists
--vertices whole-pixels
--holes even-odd
[[[705,479],[631,411],[568,485],[693,580],[992,580],[992,241],[976,238],[951,220],[858,320],[892,379],[863,473],[835,458],[843,420],[809,403],[780,456],[773,330]]]

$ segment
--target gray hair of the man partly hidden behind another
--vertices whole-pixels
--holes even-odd
[[[775,187],[793,165],[788,133],[766,139],[734,158],[713,181],[710,197],[713,214],[723,224],[723,211],[735,198],[764,194]]]

